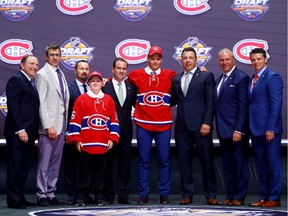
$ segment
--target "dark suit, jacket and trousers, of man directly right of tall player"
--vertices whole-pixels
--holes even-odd
[[[216,179],[213,165],[213,92],[214,76],[210,72],[195,71],[186,97],[181,88],[183,73],[173,78],[172,105],[177,104],[175,141],[178,151],[183,198],[192,198],[194,193],[192,151],[197,147],[203,172],[203,186],[206,198],[216,197]],[[201,136],[202,124],[210,125],[210,133]]]

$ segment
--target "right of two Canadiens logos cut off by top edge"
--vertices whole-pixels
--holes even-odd
[[[198,15],[210,9],[208,0],[173,0],[177,11],[185,15]]]

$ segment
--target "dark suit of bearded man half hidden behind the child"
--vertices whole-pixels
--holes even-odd
[[[76,80],[70,83],[68,89],[70,94],[69,108],[68,108],[68,126],[69,126],[75,100],[78,98],[79,95],[81,95],[81,92],[79,90]],[[69,128],[68,126],[67,128]],[[68,199],[70,199],[70,201],[73,201],[76,197],[77,158],[78,158],[78,151],[76,150],[75,145],[65,143],[63,150],[63,163],[65,169],[64,181]]]

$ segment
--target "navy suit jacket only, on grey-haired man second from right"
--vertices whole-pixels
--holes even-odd
[[[214,91],[215,120],[218,136],[232,138],[234,131],[247,133],[248,128],[248,85],[249,76],[235,68],[221,87],[217,97],[217,87],[222,76],[216,80]]]

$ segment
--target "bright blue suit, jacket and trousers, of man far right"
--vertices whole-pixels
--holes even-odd
[[[249,123],[260,180],[260,199],[280,201],[283,81],[278,73],[267,67],[252,92],[251,82]],[[266,131],[274,132],[275,138],[271,142],[266,141]]]

